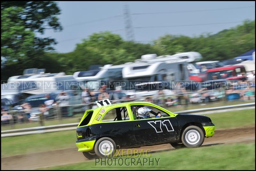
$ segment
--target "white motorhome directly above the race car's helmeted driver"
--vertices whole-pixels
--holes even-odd
[[[189,76],[185,60],[135,62],[130,66],[125,66],[122,74],[126,83],[123,89],[133,89],[135,97],[156,96],[159,89],[170,90],[173,88],[171,82],[186,81]]]

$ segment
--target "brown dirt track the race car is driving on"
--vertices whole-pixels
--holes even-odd
[[[216,145],[225,143],[252,142],[255,141],[255,125],[232,128],[219,129],[215,131],[215,135],[205,138],[203,145]],[[173,149],[170,144],[150,146],[150,151],[162,151]],[[140,151],[140,149],[139,149]],[[71,164],[87,160],[82,152],[77,152],[77,148],[69,148],[63,150],[40,152],[34,154],[25,154],[12,157],[1,158],[2,170],[13,169],[35,169],[38,167],[58,166]]]

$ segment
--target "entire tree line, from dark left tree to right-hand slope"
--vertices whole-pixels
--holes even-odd
[[[48,28],[61,31],[59,14],[55,2],[1,3],[1,56],[6,59],[1,66],[2,80],[22,75],[27,68],[73,74],[96,64],[133,62],[145,54],[160,56],[197,51],[202,54],[202,61],[225,60],[255,48],[255,20],[245,20],[243,24],[217,34],[163,35],[147,44],[125,41],[120,35],[108,31],[93,33],[76,44],[74,51],[58,53],[52,48],[56,44],[54,39],[40,38],[35,33],[43,34]]]

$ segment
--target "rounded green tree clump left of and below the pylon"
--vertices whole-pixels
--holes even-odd
[[[59,62],[68,73],[73,74],[87,70],[91,65],[124,64],[140,58],[141,55],[156,52],[149,44],[127,42],[120,35],[106,31],[83,39],[73,52],[60,54]]]

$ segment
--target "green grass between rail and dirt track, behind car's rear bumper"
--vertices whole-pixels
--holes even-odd
[[[1,138],[1,157],[76,147],[76,131]]]

